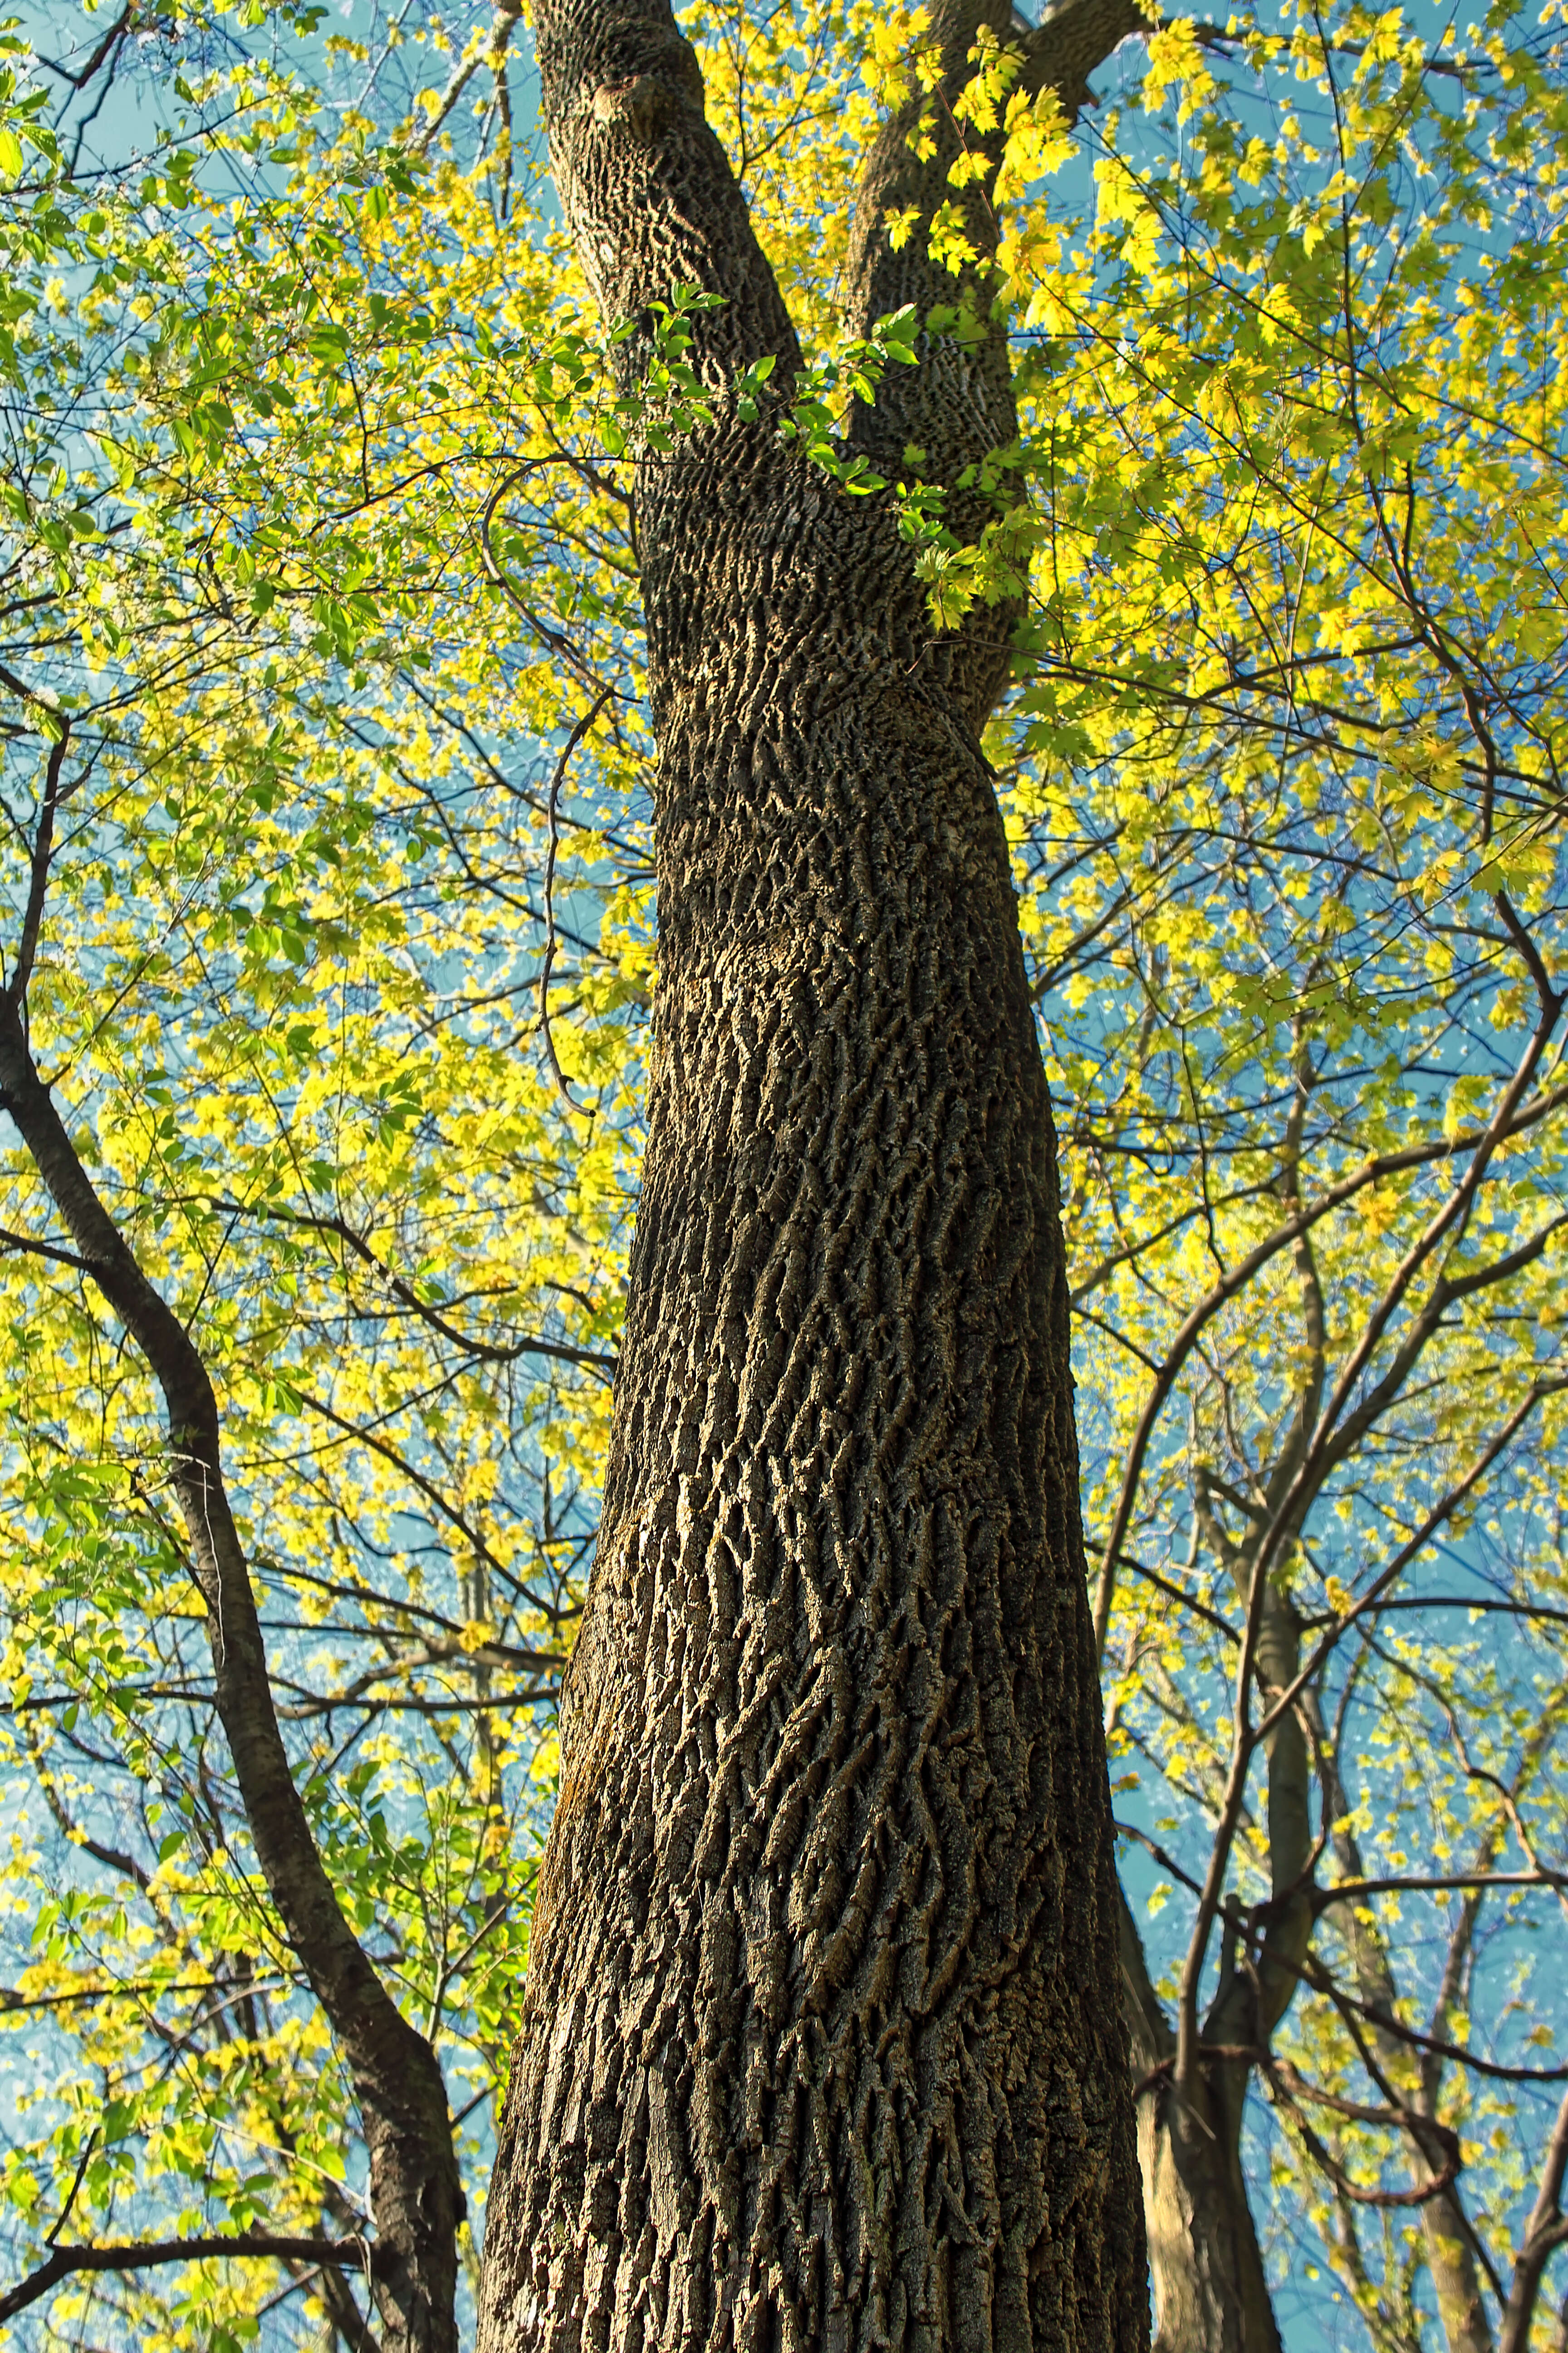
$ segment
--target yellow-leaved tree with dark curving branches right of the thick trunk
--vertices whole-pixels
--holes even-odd
[[[1251,2174],[1378,2341],[1521,2346],[1568,2240],[1563,56],[1150,49],[1093,235],[1013,266],[1095,1617],[1182,1889],[1161,1986],[1124,1918],[1159,2341],[1279,2341]]]

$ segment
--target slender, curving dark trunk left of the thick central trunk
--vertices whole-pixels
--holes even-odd
[[[47,840],[40,833],[35,899]],[[0,1111],[7,1111],[54,1195],[85,1273],[125,1322],[169,1417],[169,1480],[207,1605],[219,1720],[256,1861],[284,1934],[315,1988],[350,2068],[374,2214],[371,2285],[388,2353],[456,2353],[456,2228],[463,2191],[451,2148],[447,2089],[435,2052],[376,1977],[322,1871],[277,1729],[266,1645],[244,1548],[228,1504],[219,1405],[190,1334],[146,1280],[99,1200],[42,1085],[21,1021],[31,955],[0,991]],[[282,2242],[280,2242],[282,2245]],[[301,2242],[310,2245],[310,2242]]]

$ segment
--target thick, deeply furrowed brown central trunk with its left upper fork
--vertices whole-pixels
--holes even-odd
[[[762,351],[783,376],[668,7],[536,24],[607,315],[717,287],[691,360],[719,402]],[[891,518],[776,416],[722,407],[644,464],[639,539],[649,1148],[480,2346],[1135,2353],[1056,1146],[976,734],[994,654],[933,647]]]

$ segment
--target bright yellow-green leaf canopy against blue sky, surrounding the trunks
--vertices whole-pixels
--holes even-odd
[[[1171,1889],[1204,1880],[1239,1774],[1222,1887],[1255,1929],[1276,1892],[1267,1701],[1248,1678],[1248,1729],[1237,1692],[1267,1534],[1312,1664],[1319,1887],[1392,1885],[1319,1918],[1255,2205],[1314,2235],[1371,2341],[1420,2341],[1420,2212],[1354,2195],[1408,2186],[1408,2146],[1312,2097],[1387,2108],[1335,1993],[1382,1953],[1408,2026],[1516,2068],[1568,2024],[1542,1885],[1568,1612],[1561,35],[1495,9],[1429,52],[1352,5],[1178,24],[1091,134],[1093,184],[985,45],[964,120],[1006,132],[1023,438],[961,546],[919,452],[886,485],[839,445],[922,334],[978,332],[952,304],[844,344],[835,311],[865,141],[931,89],[922,12],[691,12],[809,372],[703,381],[703,296],[672,287],[632,393],[538,179],[512,24],[165,24],[179,118],[94,174],[28,52],[0,64],[5,976],[38,899],[33,1049],[212,1365],[322,1854],[437,2040],[477,2214],[637,1186],[630,464],[733,398],[889,501],[938,624],[1027,588],[990,751],[1063,1129],[1114,1772],[1171,1859],[1128,1887],[1175,1995],[1199,1906]],[[954,188],[985,176],[961,165]],[[889,224],[957,264],[959,231]],[[61,2217],[353,2228],[348,2087],[214,1734],[143,1367],[12,1148],[0,1193],[14,2268]],[[1260,1254],[1307,1212],[1305,1247]],[[1215,1955],[1204,1932],[1204,1984]],[[1507,2278],[1547,2094],[1455,2059],[1434,2085]],[[244,2341],[289,2285],[78,2282],[24,2327]],[[301,2304],[320,2318],[306,2292],[263,2329]]]

